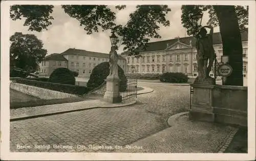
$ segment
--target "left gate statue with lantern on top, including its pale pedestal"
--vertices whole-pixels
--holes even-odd
[[[109,103],[119,103],[121,102],[121,96],[119,95],[119,82],[120,79],[118,77],[118,55],[117,55],[117,42],[119,38],[112,32],[110,36],[111,41],[111,51],[109,56],[109,64],[110,64],[110,74],[106,77],[106,91],[103,96],[103,100]]]

